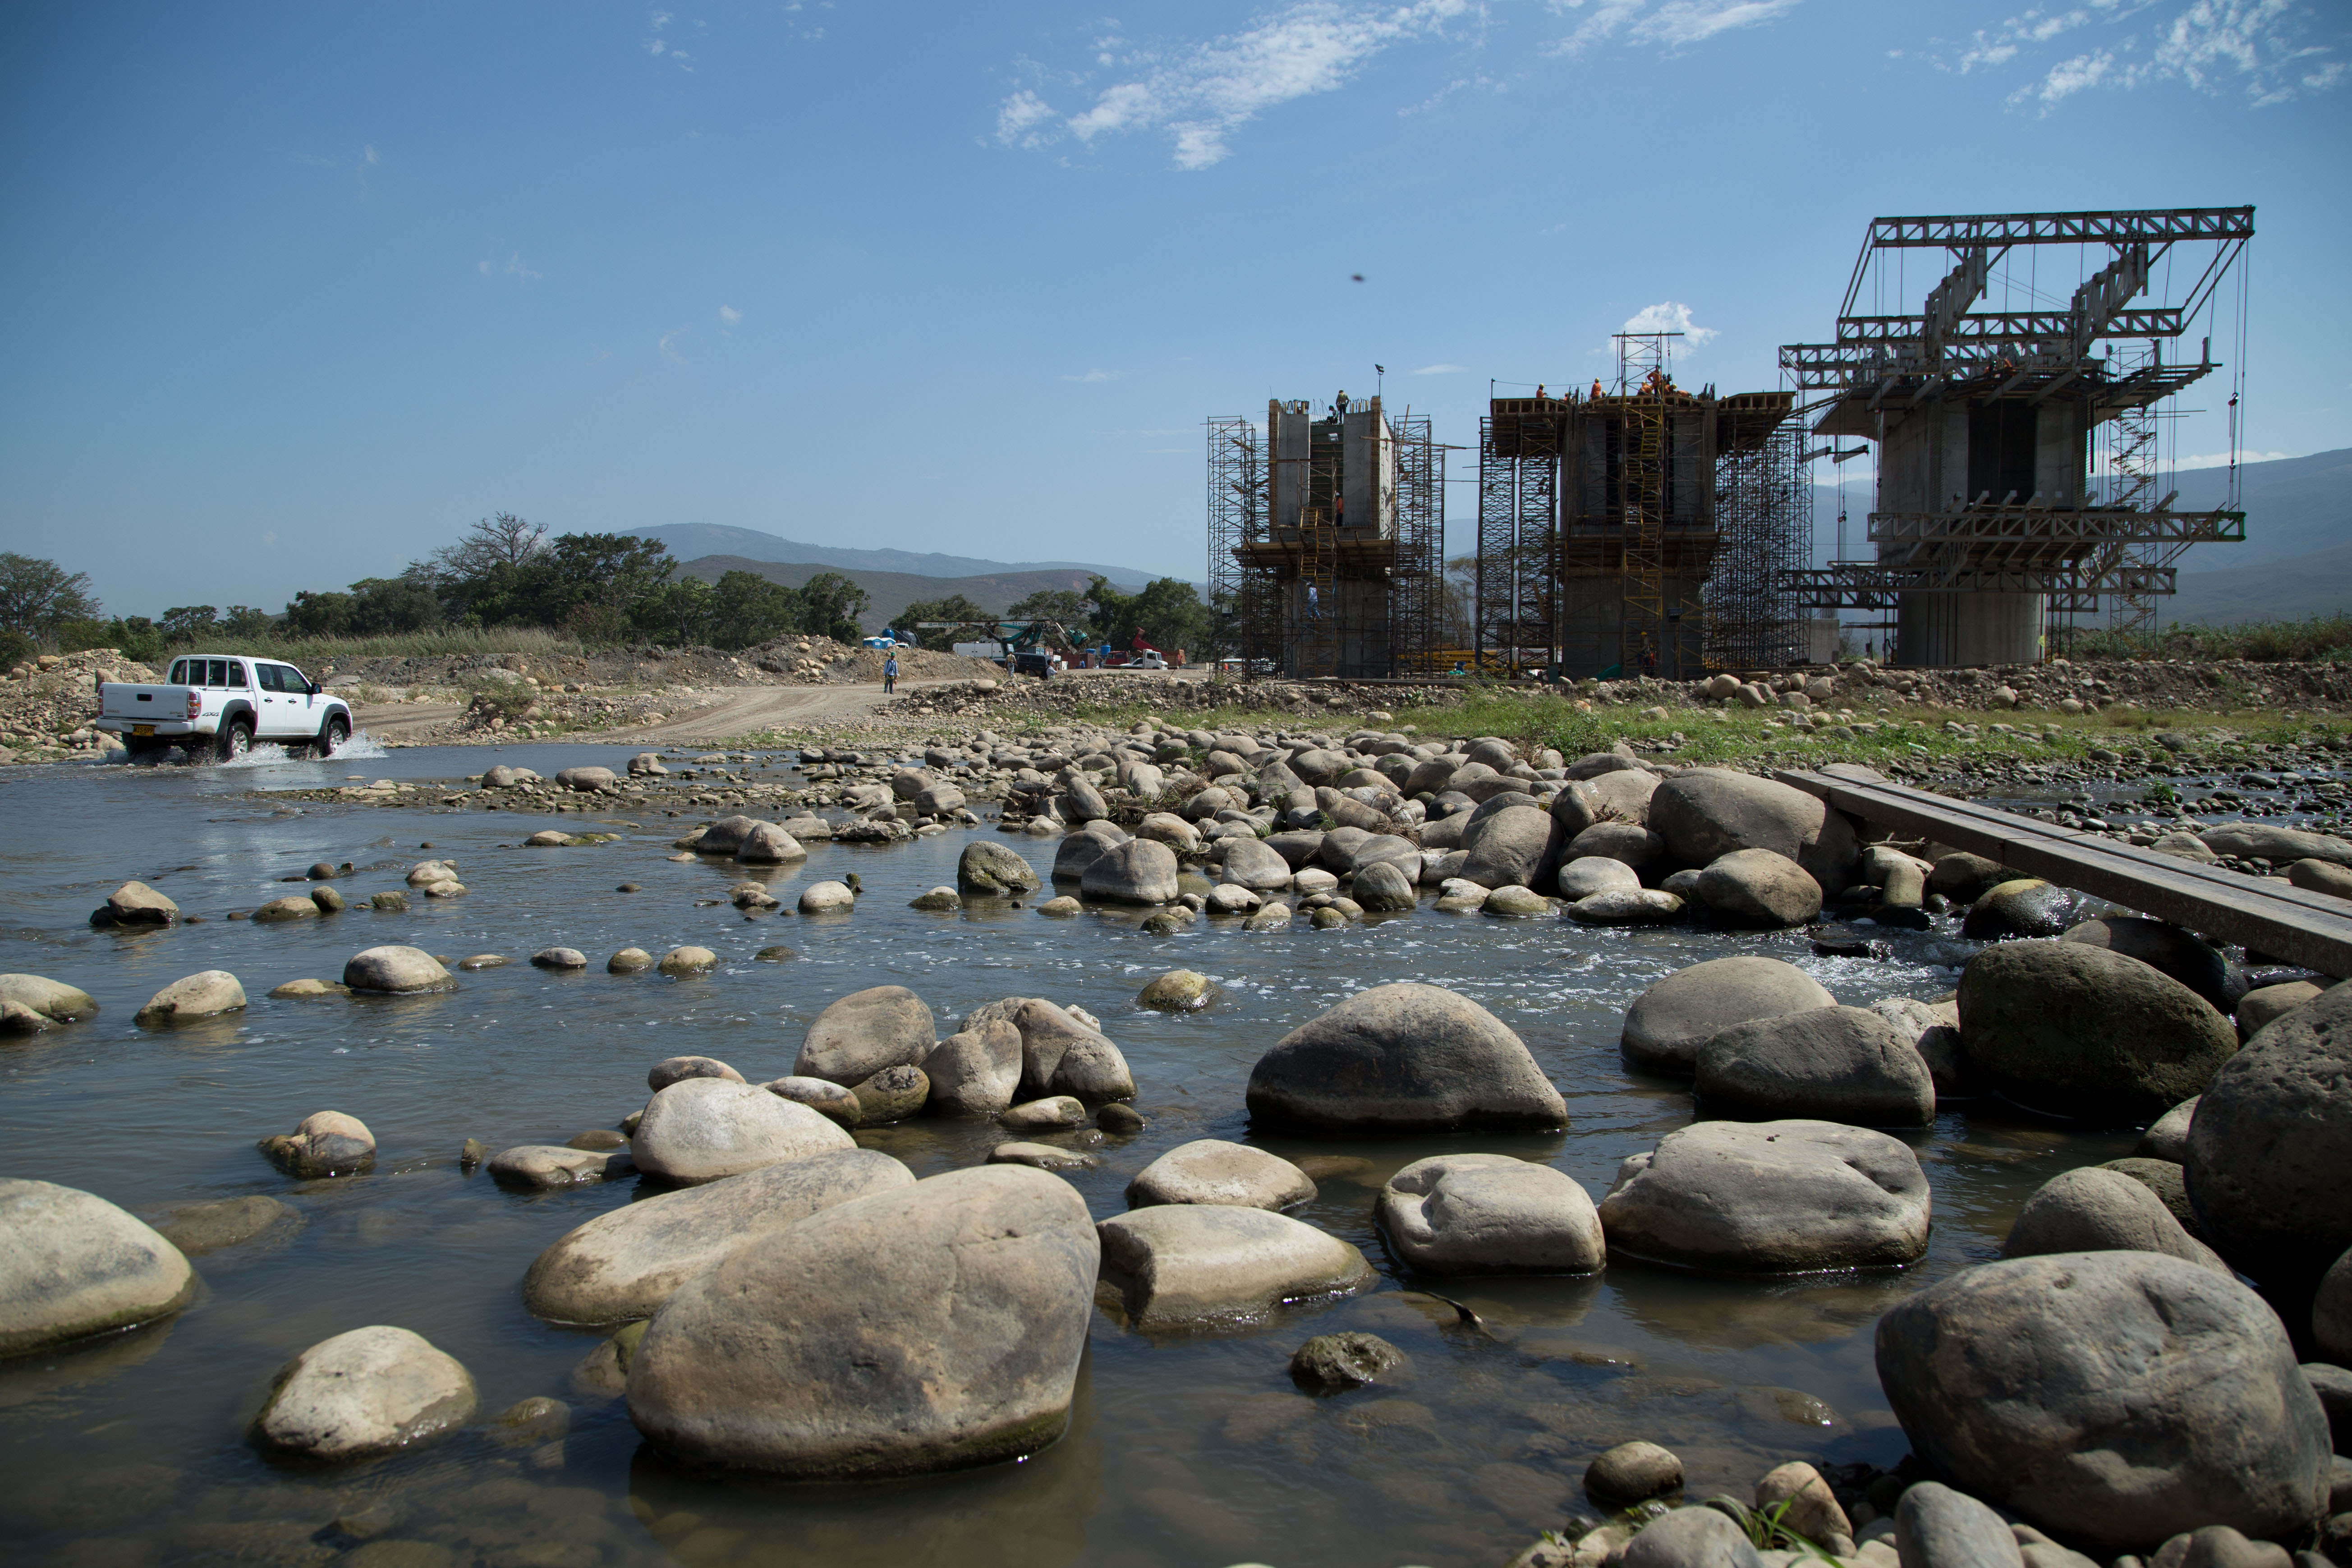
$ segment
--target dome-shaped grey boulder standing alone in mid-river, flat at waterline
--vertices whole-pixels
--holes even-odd
[[[1437,985],[1376,985],[1284,1034],[1249,1070],[1249,1114],[1350,1131],[1548,1128],[1566,1121],[1526,1044]]]

